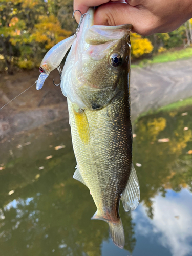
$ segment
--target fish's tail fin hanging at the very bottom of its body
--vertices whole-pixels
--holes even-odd
[[[119,248],[123,249],[124,247],[124,230],[123,225],[121,222],[121,219],[119,222],[108,222],[109,224],[109,231],[111,234],[111,238],[115,245],[117,245]]]

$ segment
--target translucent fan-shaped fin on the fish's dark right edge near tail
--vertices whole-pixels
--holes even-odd
[[[125,211],[133,211],[137,208],[139,204],[140,190],[139,190],[139,180],[132,163],[132,169],[130,173],[129,180],[126,187],[121,194],[121,200]]]

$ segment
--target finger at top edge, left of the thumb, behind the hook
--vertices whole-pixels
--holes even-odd
[[[74,0],[73,9],[81,11],[82,14],[86,13],[91,6],[99,6],[105,3],[108,3],[110,0]],[[114,0],[116,1],[116,0]],[[80,13],[75,12],[75,19],[79,23]]]

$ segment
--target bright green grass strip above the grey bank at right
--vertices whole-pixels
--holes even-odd
[[[131,65],[131,68],[135,67],[143,67],[154,63],[164,63],[164,62],[170,62],[175,61],[178,59],[188,59],[192,57],[192,47],[185,48],[182,50],[176,50],[176,51],[167,51],[165,53],[157,54],[152,59],[143,59],[141,60],[138,65]]]

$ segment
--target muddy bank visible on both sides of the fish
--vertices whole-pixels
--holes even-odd
[[[0,75],[0,108],[32,85],[39,71]],[[45,86],[35,84],[0,110],[0,136],[28,131],[58,120],[68,121],[67,101],[62,95],[58,72],[51,72]],[[132,119],[150,109],[192,96],[192,59],[160,63],[131,70]]]

